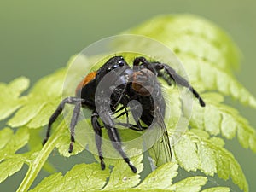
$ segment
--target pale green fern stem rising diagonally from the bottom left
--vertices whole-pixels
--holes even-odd
[[[38,153],[38,156],[35,160],[30,162],[28,171],[26,172],[26,176],[24,177],[23,181],[20,183],[19,188],[16,192],[25,192],[27,191],[30,186],[32,185],[35,178],[38,176],[38,173],[41,171],[42,167],[44,166],[45,161],[48,159],[49,154],[55,148],[56,143],[58,142],[59,137],[61,137],[62,130],[66,128],[64,121],[58,125],[52,134],[49,137],[49,141],[44,144],[44,147]]]

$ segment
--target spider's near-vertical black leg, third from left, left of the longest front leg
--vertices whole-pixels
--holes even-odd
[[[98,154],[99,154],[99,159],[101,160],[101,166],[102,166],[102,170],[105,169],[105,163],[104,163],[104,158],[102,155],[102,128],[101,125],[98,122],[98,113],[96,113],[96,111],[94,111],[91,115],[91,125],[95,131],[95,141],[96,141],[96,148],[98,150]]]

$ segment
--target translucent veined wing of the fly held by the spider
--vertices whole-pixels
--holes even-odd
[[[154,129],[156,132],[156,138],[158,140],[154,143],[153,147],[148,150],[151,157],[152,166],[160,166],[167,162],[172,161],[172,148],[166,130],[166,125],[161,113],[156,113],[156,123]]]

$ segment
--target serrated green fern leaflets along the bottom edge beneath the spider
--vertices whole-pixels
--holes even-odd
[[[142,160],[138,157],[137,162]],[[167,163],[150,173],[140,183],[139,175],[134,175],[131,170],[122,170],[123,160],[117,161],[113,172],[100,170],[97,164],[80,164],[62,176],[61,172],[55,173],[38,184],[33,191],[200,191],[207,183],[207,177],[188,177],[178,183],[172,183],[172,178],[177,176],[177,164]],[[122,165],[122,166],[120,166]],[[139,172],[141,172],[140,169]],[[79,177],[81,175],[81,177]],[[106,184],[106,179],[109,182]],[[140,184],[138,184],[140,183]],[[54,188],[52,186],[55,186]],[[226,188],[227,189],[227,188]],[[213,190],[214,191],[214,190]]]

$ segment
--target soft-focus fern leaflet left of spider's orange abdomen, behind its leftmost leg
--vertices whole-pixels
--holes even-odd
[[[38,128],[46,125],[49,115],[54,112],[57,103],[61,102],[61,93],[66,69],[61,69],[35,84],[27,95],[26,103],[15,116],[8,121],[11,127],[27,125]]]

